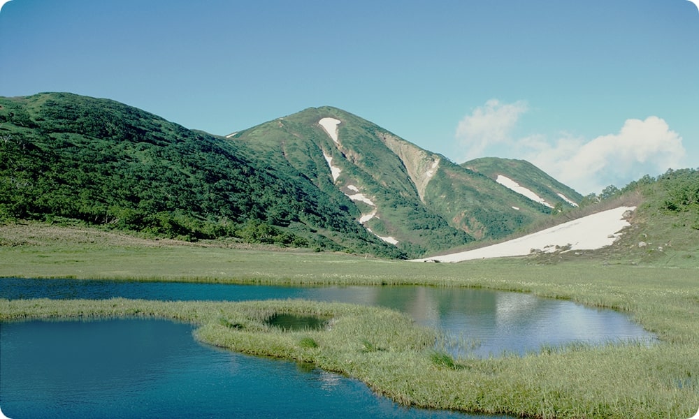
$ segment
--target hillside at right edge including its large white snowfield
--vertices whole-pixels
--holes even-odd
[[[529,235],[420,260],[528,256],[536,263],[603,260],[698,266],[699,170],[668,170],[656,178],[646,175],[594,200],[585,207],[564,210]]]

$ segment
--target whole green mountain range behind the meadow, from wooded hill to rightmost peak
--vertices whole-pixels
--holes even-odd
[[[219,137],[74,94],[0,106],[0,220],[405,258],[505,237],[581,198],[526,162],[459,166],[331,107]]]

